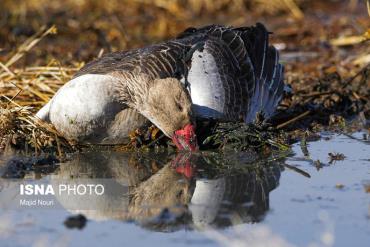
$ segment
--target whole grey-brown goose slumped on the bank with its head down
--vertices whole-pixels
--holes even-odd
[[[178,149],[194,151],[196,119],[272,117],[283,77],[263,24],[188,28],[172,40],[87,63],[36,115],[85,144],[127,143],[130,131],[150,121]]]

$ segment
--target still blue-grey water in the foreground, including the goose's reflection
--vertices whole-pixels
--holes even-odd
[[[369,142],[363,133],[322,137],[308,155],[296,144],[282,159],[88,152],[35,169],[3,158],[0,245],[369,246]],[[330,164],[328,153],[345,158]],[[101,184],[105,192],[31,196],[54,205],[25,206],[20,184]],[[86,224],[66,227],[76,214]]]

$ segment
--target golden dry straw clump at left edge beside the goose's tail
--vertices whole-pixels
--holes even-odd
[[[46,66],[10,68],[42,38],[55,32],[54,26],[42,27],[6,63],[0,62],[0,153],[9,146],[36,154],[51,151],[62,155],[63,151],[73,149],[52,125],[38,119],[34,112],[35,106],[48,102],[78,68],[63,68],[55,60]]]

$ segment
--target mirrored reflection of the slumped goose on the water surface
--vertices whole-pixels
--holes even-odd
[[[261,221],[281,169],[277,161],[252,162],[244,154],[88,152],[61,163],[52,180],[114,180],[119,198],[107,193],[98,200],[58,200],[91,220],[135,221],[153,231],[176,231]],[[84,203],[89,210],[71,210]]]

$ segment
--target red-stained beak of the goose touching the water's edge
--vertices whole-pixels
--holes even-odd
[[[179,150],[198,150],[197,136],[195,135],[195,128],[192,124],[187,124],[183,129],[176,130],[172,141]]]

